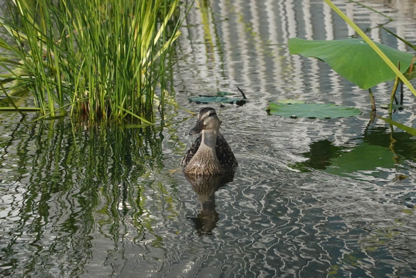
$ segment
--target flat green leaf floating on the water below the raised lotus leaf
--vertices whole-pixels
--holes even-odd
[[[267,110],[273,115],[298,118],[343,118],[361,114],[358,108],[320,103],[276,104],[272,102],[269,109]]]

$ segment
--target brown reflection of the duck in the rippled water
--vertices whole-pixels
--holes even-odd
[[[211,176],[195,176],[184,173],[186,179],[198,196],[201,211],[191,220],[199,235],[212,235],[220,219],[215,211],[215,191],[233,181],[234,173],[225,173]]]

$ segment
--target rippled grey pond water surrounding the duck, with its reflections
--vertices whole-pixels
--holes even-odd
[[[364,30],[388,21],[334,2]],[[411,12],[363,2],[415,43]],[[308,0],[197,1],[181,31],[174,55],[189,54],[173,68],[172,96],[153,127],[0,114],[0,276],[416,276],[415,138],[371,122],[368,92],[287,48],[290,37],[353,31]],[[407,50],[378,28],[367,34]],[[188,97],[238,96],[237,86],[245,105],[210,104],[237,171],[228,182],[188,181],[179,163],[196,119],[178,107],[196,112],[206,105]],[[373,89],[377,105],[391,87]],[[363,113],[267,115],[270,102],[288,98]],[[415,127],[416,99],[406,91],[404,101],[394,120]]]

